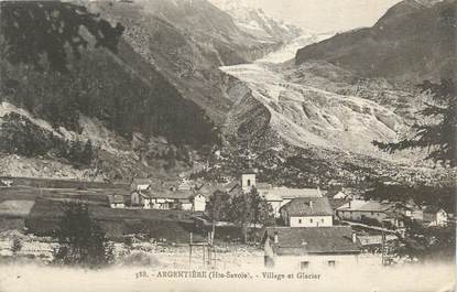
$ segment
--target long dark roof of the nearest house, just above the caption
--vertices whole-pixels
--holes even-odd
[[[278,244],[274,236],[278,235]],[[360,242],[352,242],[349,226],[331,227],[266,227],[262,242],[270,239],[276,255],[358,253]]]

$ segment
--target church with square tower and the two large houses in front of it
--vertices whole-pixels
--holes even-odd
[[[241,188],[255,187],[282,226],[266,227],[261,239],[266,267],[307,269],[353,264],[361,245],[350,226],[334,226],[334,210],[319,188],[272,187],[241,176]]]

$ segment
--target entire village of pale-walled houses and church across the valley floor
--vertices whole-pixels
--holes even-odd
[[[363,201],[350,188],[330,193],[319,188],[272,186],[258,182],[255,171],[247,171],[238,181],[221,185],[194,185],[188,180],[166,185],[135,179],[128,196],[108,195],[108,202],[115,209],[193,212],[202,214],[195,216],[196,221],[207,223],[204,214],[216,191],[248,193],[252,187],[271,205],[278,223],[262,228],[259,248],[265,267],[334,267],[358,262],[367,253],[374,258],[382,256],[385,264],[389,255],[384,255],[384,244],[404,235],[405,219],[439,228],[447,226],[453,216],[444,209],[417,206],[413,202]]]

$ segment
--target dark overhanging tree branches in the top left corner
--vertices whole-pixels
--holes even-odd
[[[118,23],[90,13],[85,7],[61,1],[1,1],[0,31],[2,57],[11,64],[28,64],[43,68],[46,57],[52,69],[65,73],[67,52],[80,57],[89,40],[81,32],[85,28],[95,39],[95,46],[117,52],[117,44],[124,30]]]

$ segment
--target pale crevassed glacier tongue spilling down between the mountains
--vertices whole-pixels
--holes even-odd
[[[394,140],[403,126],[402,118],[374,101],[326,91],[287,77],[303,67],[279,63],[290,60],[293,50],[306,41],[309,36],[252,64],[220,69],[249,87],[252,98],[270,112],[269,126],[289,143],[382,155],[371,142]]]

